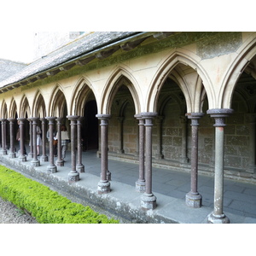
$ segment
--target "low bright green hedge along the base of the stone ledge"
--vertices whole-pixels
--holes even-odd
[[[0,166],[0,196],[20,209],[26,209],[41,224],[119,223],[90,207],[73,203],[47,186],[5,166]]]

